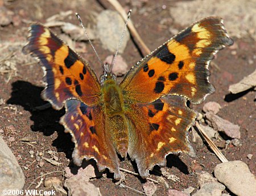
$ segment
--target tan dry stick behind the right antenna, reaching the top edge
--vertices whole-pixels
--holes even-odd
[[[120,3],[117,0],[108,0],[108,2],[114,6],[115,10],[117,10],[119,12],[119,14],[122,16],[123,20],[126,21],[127,13],[123,9],[123,7],[120,5]],[[141,36],[139,36],[139,33],[136,31],[131,20],[127,26],[130,30],[131,36],[133,36],[135,38],[135,40],[138,41],[138,46],[142,50],[143,55],[146,56],[147,54],[149,54],[150,49],[147,48],[146,44],[141,39]]]

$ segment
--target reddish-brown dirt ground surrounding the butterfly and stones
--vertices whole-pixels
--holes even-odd
[[[0,0],[0,6],[1,6]],[[151,50],[173,36],[169,28],[181,30],[184,26],[175,23],[174,18],[179,16],[170,16],[170,7],[175,7],[175,1],[138,1],[144,2],[131,3],[131,1],[120,1],[126,9],[133,9],[132,20],[143,37],[144,42]],[[156,3],[157,2],[157,3]],[[185,1],[189,5],[189,1]],[[4,1],[5,7],[14,12],[14,22],[6,26],[0,26],[0,66],[3,65],[1,59],[10,60],[9,67],[1,72],[0,75],[0,133],[6,143],[9,145],[16,156],[20,167],[26,177],[24,189],[30,186],[30,182],[43,173],[53,171],[64,171],[67,166],[73,167],[72,151],[74,144],[71,141],[71,135],[64,133],[64,128],[59,124],[60,117],[64,114],[64,109],[57,111],[52,108],[38,110],[37,106],[46,104],[40,97],[43,90],[43,71],[36,61],[30,56],[22,54],[22,46],[26,44],[27,27],[29,22],[46,22],[46,19],[61,11],[72,10],[74,13],[79,12],[83,22],[93,27],[95,17],[102,10],[114,8],[106,1]],[[164,6],[163,6],[164,5]],[[179,7],[176,7],[179,9]],[[232,20],[230,18],[225,20]],[[78,25],[74,14],[65,18],[65,22],[71,22]],[[239,21],[234,21],[239,23]],[[57,34],[60,28],[52,28]],[[229,31],[229,29],[227,29]],[[222,109],[218,115],[230,122],[241,126],[241,143],[242,146],[233,146],[229,144],[221,151],[228,160],[242,160],[248,166],[250,171],[255,174],[255,91],[249,90],[232,95],[228,92],[231,84],[239,82],[244,76],[249,75],[255,70],[256,61],[256,42],[251,36],[242,36],[239,39],[232,37],[235,44],[231,48],[225,48],[217,54],[213,60],[214,65],[210,66],[210,82],[214,84],[216,92],[207,97],[207,101],[216,101]],[[111,53],[101,48],[100,40],[93,41],[101,59],[105,59]],[[88,42],[81,42],[84,46],[84,52],[81,56],[89,62],[96,71],[97,75],[102,73],[100,63],[94,55]],[[9,57],[10,56],[10,57]],[[141,55],[130,40],[122,54],[129,67],[133,66]],[[203,104],[192,105],[191,107],[201,112]],[[26,138],[25,138],[26,137]],[[24,139],[25,138],[25,139]],[[28,140],[28,142],[22,142]],[[197,157],[192,159],[187,155],[181,154],[179,157],[169,155],[167,157],[166,169],[179,177],[180,181],[168,180],[170,188],[184,190],[189,186],[198,188],[196,174],[193,170],[192,162],[196,160],[203,167],[203,171],[212,173],[216,164],[220,160],[210,151],[207,144],[203,147],[192,143],[196,150]],[[44,157],[51,158],[53,155],[47,151],[55,151],[55,160],[61,163],[59,166],[52,165],[44,161],[43,165],[35,160],[36,152],[44,152]],[[34,151],[31,152],[31,151]],[[247,155],[253,154],[252,159]],[[94,166],[94,161],[90,161]],[[42,166],[42,167],[41,167]],[[137,172],[136,164],[130,160],[122,161],[121,167]],[[159,168],[155,167],[151,172],[151,178],[157,180],[160,176]],[[101,176],[92,180],[92,183],[100,188],[102,195],[134,195],[134,191],[121,188],[113,181],[113,174],[106,173],[106,177]],[[47,177],[57,176],[64,181],[63,173],[51,173]],[[45,178],[45,177],[44,177]],[[40,178],[32,184],[30,189],[35,186]],[[146,182],[140,177],[126,174],[126,180],[123,182],[126,186],[143,192],[142,185]],[[167,195],[168,189],[164,185],[157,185],[156,195]],[[45,189],[43,184],[38,188]],[[228,192],[228,190],[226,190]]]

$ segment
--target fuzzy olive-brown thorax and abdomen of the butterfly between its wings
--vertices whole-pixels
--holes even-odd
[[[115,149],[125,157],[128,148],[128,126],[122,90],[117,81],[110,78],[105,80],[101,92],[105,110],[105,130],[108,131]]]

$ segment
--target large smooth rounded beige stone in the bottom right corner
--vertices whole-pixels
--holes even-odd
[[[216,165],[214,176],[236,195],[256,195],[256,178],[240,160]]]

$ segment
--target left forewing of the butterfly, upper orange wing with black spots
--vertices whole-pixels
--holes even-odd
[[[88,105],[96,103],[100,84],[93,70],[48,28],[40,24],[31,25],[24,49],[36,56],[45,70],[47,87],[42,97],[53,108],[61,109],[64,101],[71,98]]]

